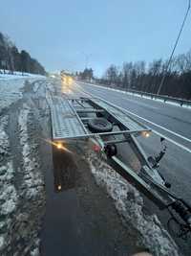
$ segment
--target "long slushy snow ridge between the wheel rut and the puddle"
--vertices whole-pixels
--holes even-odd
[[[32,109],[25,104],[18,116],[19,151],[22,154],[20,167],[17,169],[19,207],[10,220],[11,234],[8,228],[5,236],[0,239],[0,244],[5,244],[3,254],[0,248],[1,255],[7,255],[8,252],[9,255],[40,255],[38,232],[45,209],[44,177],[40,171],[37,144],[34,143],[33,133],[29,132],[28,126],[36,134]],[[11,204],[9,208],[11,209]]]

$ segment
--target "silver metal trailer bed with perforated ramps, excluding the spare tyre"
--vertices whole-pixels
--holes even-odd
[[[80,118],[80,114],[83,113],[96,114],[104,112],[115,118],[118,125],[123,128],[117,132],[107,132],[107,135],[110,133],[139,135],[141,132],[149,130],[132,119],[126,112],[96,98],[64,98],[62,96],[52,96],[49,104],[52,116],[53,140],[93,137],[95,134],[90,132],[82,122],[85,118]],[[96,135],[99,134],[96,133]]]

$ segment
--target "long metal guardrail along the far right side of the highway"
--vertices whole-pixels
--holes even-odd
[[[83,81],[83,82],[86,82],[86,81]],[[89,82],[89,81],[88,81],[88,83],[92,83],[94,85],[102,86],[102,87],[108,88],[108,89],[131,93],[133,95],[138,95],[140,97],[149,97],[150,99],[153,99],[153,100],[162,100],[164,103],[175,103],[180,106],[190,106],[191,107],[191,101],[185,100],[185,99],[174,98],[174,97],[167,96],[167,95],[157,95],[154,93],[142,92],[142,91],[137,91],[137,90],[132,90],[132,89],[124,90],[122,88],[118,88],[115,86],[108,87],[105,84],[100,84],[100,83],[97,84],[97,83]]]

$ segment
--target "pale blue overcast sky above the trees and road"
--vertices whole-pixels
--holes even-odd
[[[0,31],[47,70],[168,58],[187,0],[5,0]],[[191,48],[191,12],[176,54]]]

